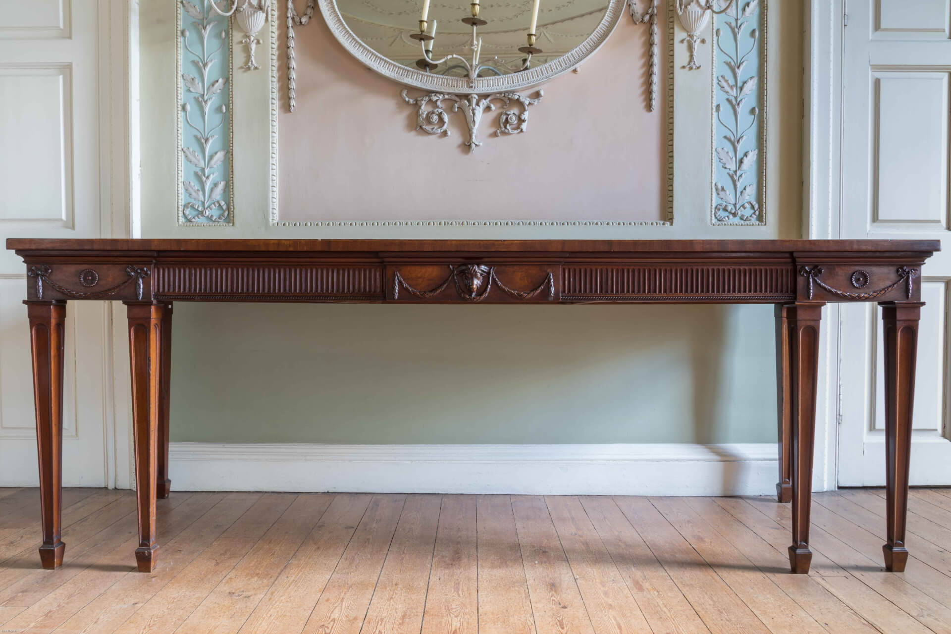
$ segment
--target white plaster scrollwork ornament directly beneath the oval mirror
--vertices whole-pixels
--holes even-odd
[[[437,136],[448,137],[451,134],[449,113],[446,108],[441,106],[441,102],[453,102],[452,111],[461,112],[469,128],[469,139],[464,144],[469,147],[470,152],[473,152],[476,147],[482,144],[478,140],[478,125],[482,121],[482,115],[487,110],[495,110],[494,102],[501,102],[503,107],[507,107],[513,102],[521,105],[520,110],[507,109],[502,111],[498,117],[498,128],[495,130],[495,136],[520,134],[527,129],[529,107],[537,104],[545,95],[542,90],[535,93],[535,97],[526,97],[515,92],[500,92],[485,97],[474,94],[460,96],[451,93],[433,92],[413,98],[407,94],[405,88],[399,94],[407,104],[417,106],[417,130]]]

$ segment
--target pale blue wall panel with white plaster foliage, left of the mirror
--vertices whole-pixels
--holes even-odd
[[[229,29],[211,0],[197,3],[179,3],[179,223],[231,224]]]

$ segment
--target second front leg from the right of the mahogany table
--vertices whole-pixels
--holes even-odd
[[[809,571],[809,510],[812,504],[812,453],[816,431],[816,381],[819,374],[819,324],[823,302],[786,306],[789,329],[789,403],[792,438],[792,546],[789,567]]]

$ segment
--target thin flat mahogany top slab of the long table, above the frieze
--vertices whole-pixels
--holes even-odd
[[[259,253],[916,253],[941,250],[940,240],[180,240],[10,238],[26,251],[259,252]]]

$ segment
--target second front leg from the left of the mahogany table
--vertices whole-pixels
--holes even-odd
[[[165,304],[126,302],[128,350],[132,375],[132,436],[135,441],[135,496],[139,514],[139,572],[157,561],[155,493],[160,401],[162,319]]]

